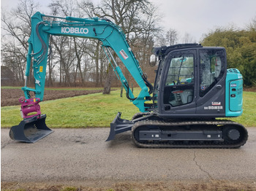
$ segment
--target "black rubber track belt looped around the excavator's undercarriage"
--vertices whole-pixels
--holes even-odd
[[[187,126],[187,125],[236,125],[240,126],[244,129],[244,138],[241,139],[240,142],[236,142],[236,144],[232,144],[227,141],[207,141],[205,144],[199,144],[198,141],[174,141],[173,144],[170,144],[168,141],[157,141],[157,144],[153,141],[147,141],[146,144],[140,143],[138,140],[135,140],[135,130],[140,128],[143,125],[157,125],[160,127],[171,127],[171,126]],[[207,129],[206,129],[207,130]],[[143,148],[198,148],[198,149],[236,149],[243,146],[248,139],[248,132],[243,125],[229,121],[229,120],[214,120],[214,121],[186,121],[186,122],[162,122],[162,121],[151,121],[151,120],[144,120],[140,122],[136,122],[135,125],[132,127],[132,140],[138,147]]]

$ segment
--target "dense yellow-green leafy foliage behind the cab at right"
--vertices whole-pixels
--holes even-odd
[[[256,31],[236,28],[216,28],[205,36],[204,46],[225,47],[227,51],[227,67],[241,71],[244,85],[256,85]]]

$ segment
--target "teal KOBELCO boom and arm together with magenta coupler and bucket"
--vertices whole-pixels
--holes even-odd
[[[55,21],[52,18],[59,21]],[[26,79],[25,86],[22,87],[25,98],[20,98],[19,100],[24,120],[20,122],[20,125],[13,126],[10,130],[10,137],[12,139],[34,142],[52,132],[46,125],[43,125],[45,124],[46,116],[41,114],[39,107],[39,102],[43,100],[45,90],[46,67],[48,54],[50,53],[48,52],[50,35],[98,39],[102,42],[102,47],[118,79],[120,79],[121,84],[127,91],[127,98],[140,109],[140,112],[146,112],[150,109],[150,106],[144,104],[144,102],[150,100],[150,93],[153,87],[140,69],[140,65],[135,59],[135,55],[119,26],[108,19],[99,17],[56,17],[42,15],[40,12],[37,12],[31,17],[31,36],[29,38],[29,51],[26,62]],[[124,66],[140,86],[141,91],[136,98],[129,88],[127,79],[117,65],[111,49],[116,52],[118,58],[124,63]],[[34,72],[34,88],[27,86],[31,67]],[[31,92],[34,93],[35,98],[31,98]],[[42,122],[40,122],[41,120]],[[23,129],[26,131],[26,134],[20,133],[23,132]]]

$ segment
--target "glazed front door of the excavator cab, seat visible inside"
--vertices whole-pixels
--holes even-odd
[[[162,77],[162,114],[195,114],[196,50],[167,55]]]

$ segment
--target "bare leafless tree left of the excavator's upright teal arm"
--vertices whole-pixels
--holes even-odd
[[[26,66],[26,55],[28,52],[28,39],[31,34],[31,17],[39,4],[32,0],[20,0],[18,6],[11,12],[1,12],[2,36],[1,58],[15,73],[15,78],[20,84],[24,82],[24,70]],[[31,70],[30,70],[31,71]],[[31,83],[31,74],[29,82]]]

